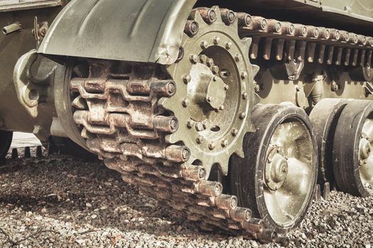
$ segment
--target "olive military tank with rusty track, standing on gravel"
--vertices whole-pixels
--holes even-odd
[[[372,195],[372,1],[60,9],[1,62],[2,129],[69,137],[175,216],[264,242],[288,243],[317,184]]]

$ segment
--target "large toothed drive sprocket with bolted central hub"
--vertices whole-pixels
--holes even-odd
[[[212,9],[220,13],[218,7]],[[227,26],[217,15],[215,22],[206,23],[198,11],[190,18],[199,31],[183,35],[183,57],[167,68],[177,91],[159,101],[180,123],[166,139],[190,149],[186,167],[202,165],[208,177],[218,164],[227,174],[229,157],[244,156],[243,137],[254,131],[250,113],[258,67],[248,57],[252,40],[239,38],[237,20]]]

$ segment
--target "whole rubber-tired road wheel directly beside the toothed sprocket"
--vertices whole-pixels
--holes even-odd
[[[318,156],[313,127],[301,108],[259,105],[255,133],[244,138],[245,158],[232,157],[231,190],[266,228],[289,232],[301,223],[313,199]]]

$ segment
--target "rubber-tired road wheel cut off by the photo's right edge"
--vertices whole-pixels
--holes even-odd
[[[350,101],[335,129],[333,171],[340,191],[354,196],[373,193],[373,101]]]

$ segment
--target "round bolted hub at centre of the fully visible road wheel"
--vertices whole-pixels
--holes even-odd
[[[288,159],[281,154],[279,147],[270,152],[266,162],[265,182],[272,190],[278,190],[288,176]]]

